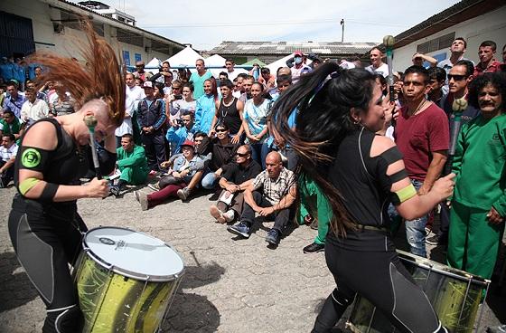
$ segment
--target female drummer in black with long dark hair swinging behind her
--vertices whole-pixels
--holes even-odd
[[[298,107],[295,133],[287,119]],[[297,151],[301,175],[323,189],[333,208],[325,258],[337,287],[325,300],[313,332],[329,332],[360,293],[401,332],[445,332],[424,292],[399,262],[389,234],[393,202],[407,220],[452,194],[454,175],[417,195],[392,140],[375,135],[391,109],[374,76],[340,70],[333,62],[281,95],[276,129]]]

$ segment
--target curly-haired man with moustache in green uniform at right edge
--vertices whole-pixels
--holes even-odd
[[[455,150],[448,264],[492,276],[506,216],[506,77],[474,79],[469,103],[481,114],[463,125]]]

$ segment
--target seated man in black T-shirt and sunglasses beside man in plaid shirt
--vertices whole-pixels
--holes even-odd
[[[231,165],[220,178],[223,189],[216,205],[210,212],[220,224],[230,223],[242,214],[244,190],[251,186],[253,179],[262,171],[262,167],[251,158],[251,147],[240,146],[236,153],[236,164]],[[233,195],[229,201],[229,195]],[[222,200],[225,200],[222,201]],[[227,202],[229,202],[227,204]]]

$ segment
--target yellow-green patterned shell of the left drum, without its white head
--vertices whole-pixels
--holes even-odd
[[[112,271],[92,256],[89,251],[80,254],[75,274],[85,319],[83,333],[155,332],[179,279],[136,280]]]

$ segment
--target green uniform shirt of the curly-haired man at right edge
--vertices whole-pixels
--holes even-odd
[[[455,149],[454,200],[472,208],[493,206],[506,216],[506,114],[486,120],[480,115],[464,124]]]

